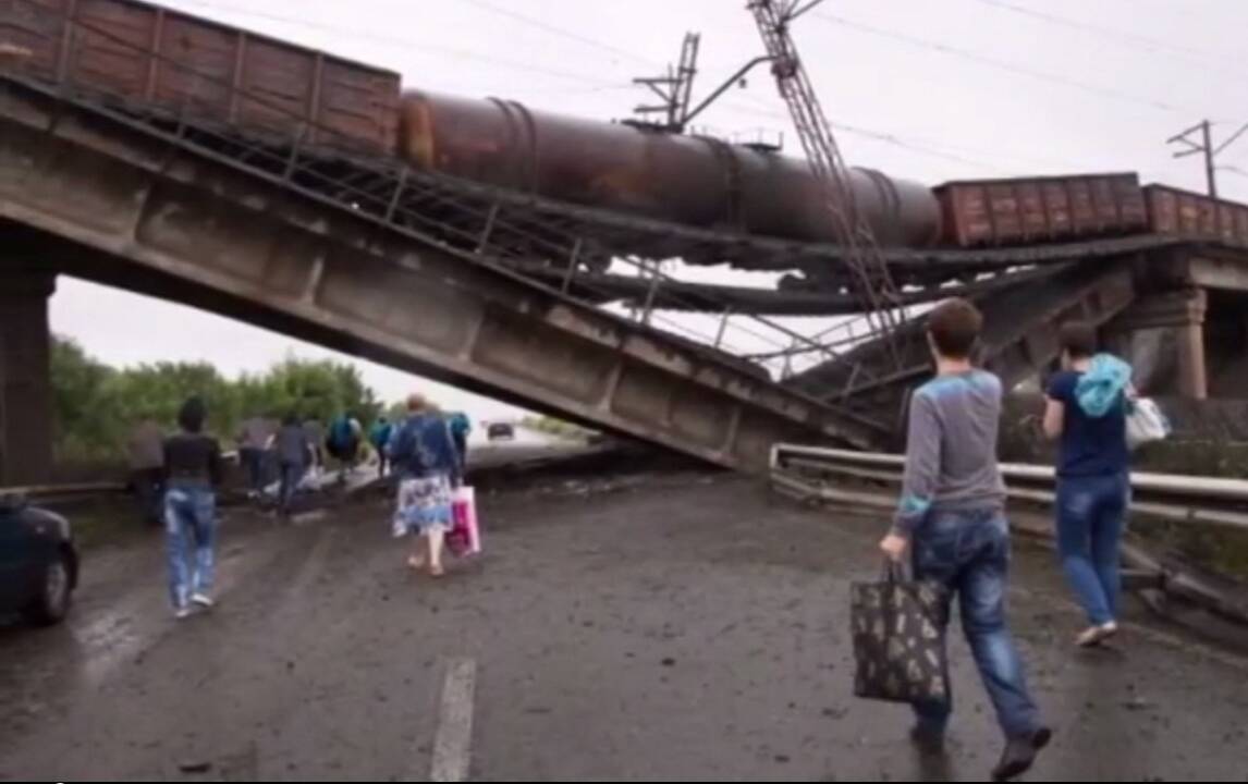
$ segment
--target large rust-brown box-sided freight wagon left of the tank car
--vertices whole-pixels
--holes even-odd
[[[136,111],[392,155],[398,74],[136,0],[0,0],[0,66]]]

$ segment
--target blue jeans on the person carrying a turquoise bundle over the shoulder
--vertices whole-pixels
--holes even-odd
[[[1057,552],[1092,625],[1118,618],[1118,546],[1129,494],[1127,473],[1057,482]]]

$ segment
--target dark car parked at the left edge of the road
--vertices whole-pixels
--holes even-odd
[[[79,579],[70,523],[21,498],[0,497],[0,615],[52,625],[69,614]]]

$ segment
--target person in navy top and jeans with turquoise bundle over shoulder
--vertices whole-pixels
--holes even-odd
[[[1118,547],[1131,493],[1127,411],[1131,367],[1096,353],[1096,330],[1061,330],[1062,371],[1048,385],[1045,434],[1060,439],[1057,548],[1088,618],[1076,639],[1087,648],[1118,633]]]

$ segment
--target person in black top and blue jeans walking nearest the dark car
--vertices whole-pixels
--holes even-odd
[[[198,397],[177,414],[181,432],[165,442],[165,532],[170,599],[177,618],[192,607],[213,604],[216,572],[216,488],[221,484],[221,444],[203,434],[207,408]]]

